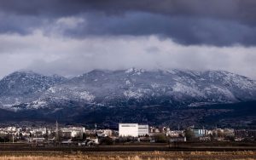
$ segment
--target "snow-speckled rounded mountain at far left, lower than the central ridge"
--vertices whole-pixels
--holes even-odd
[[[15,71],[0,81],[2,105],[19,105],[37,100],[51,86],[65,81],[59,76],[43,76],[33,71]]]

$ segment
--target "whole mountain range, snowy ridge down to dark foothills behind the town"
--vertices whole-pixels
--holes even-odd
[[[190,111],[189,115],[191,111],[205,106],[209,108],[254,100],[256,81],[229,71],[148,71],[131,68],[94,70],[72,78],[15,71],[0,80],[1,111],[8,111],[8,115],[15,115],[10,117],[19,120],[58,118],[64,122],[105,125],[120,121],[168,124],[170,120],[166,117],[177,114],[175,111],[180,111],[177,114],[180,117],[186,111]],[[113,111],[118,113],[113,115]],[[140,116],[134,117],[132,113],[125,115],[125,111],[137,111]],[[224,111],[218,109],[215,112],[221,115],[226,111],[229,110],[224,108]],[[94,117],[102,113],[103,117]],[[145,117],[153,113],[154,118]],[[216,115],[213,113],[208,116]],[[199,117],[207,119],[206,115]],[[186,122],[185,118],[180,121]],[[191,122],[200,123],[198,119]]]

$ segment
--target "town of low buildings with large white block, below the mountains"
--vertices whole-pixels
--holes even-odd
[[[96,146],[127,143],[175,143],[256,140],[253,129],[188,129],[149,127],[148,124],[119,123],[119,129],[85,129],[77,126],[0,128],[1,143],[26,143],[32,146]]]

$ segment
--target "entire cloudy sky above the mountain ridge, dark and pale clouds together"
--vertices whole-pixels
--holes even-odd
[[[0,1],[0,78],[131,67],[256,79],[256,1]]]

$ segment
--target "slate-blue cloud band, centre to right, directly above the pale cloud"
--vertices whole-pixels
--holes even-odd
[[[138,35],[157,34],[172,37],[182,44],[230,45],[243,43],[253,45],[256,28],[236,21],[202,18],[172,18],[160,14],[128,13],[121,17],[84,15],[84,24],[79,28],[67,29],[64,34],[74,37],[85,35]]]

